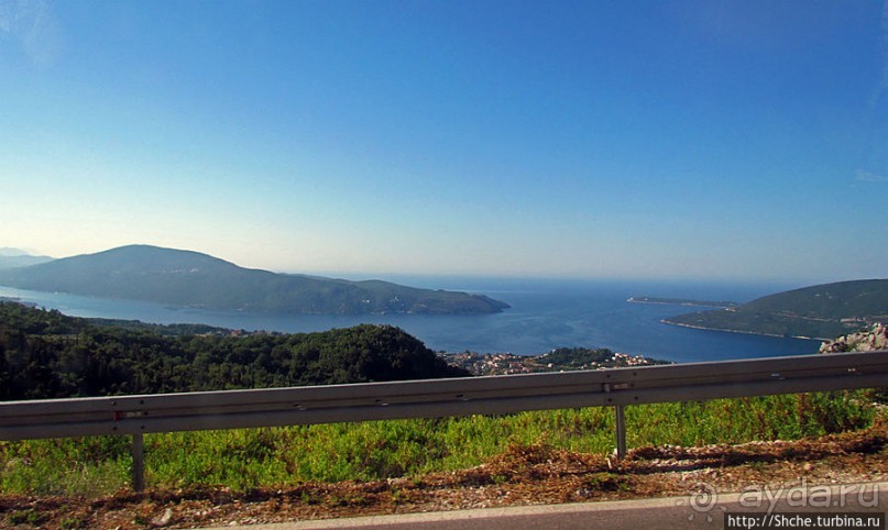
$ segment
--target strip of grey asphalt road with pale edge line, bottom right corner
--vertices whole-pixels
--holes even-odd
[[[523,529],[723,529],[727,515],[771,514],[771,527],[757,527],[752,519],[736,521],[748,528],[856,528],[847,521],[842,527],[805,526],[799,514],[824,516],[827,512],[867,512],[885,517],[888,509],[888,482],[844,484],[832,487],[809,486],[783,489],[747,489],[742,494],[713,495],[701,489],[694,496],[582,503],[569,505],[523,506],[479,510],[376,516],[353,519],[300,521],[251,527],[221,527],[243,530],[306,529],[421,529],[421,530],[523,530]],[[780,518],[779,515],[786,517]],[[840,521],[841,522],[841,521]],[[737,527],[742,528],[742,527]],[[864,527],[867,528],[867,527]]]

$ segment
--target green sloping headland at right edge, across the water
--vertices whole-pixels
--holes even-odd
[[[815,285],[737,307],[681,314],[666,323],[708,330],[829,340],[888,322],[888,279]]]

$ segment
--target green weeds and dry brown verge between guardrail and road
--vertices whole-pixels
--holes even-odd
[[[206,438],[199,440],[200,444],[188,445],[182,452],[166,456],[163,453],[169,445],[157,442],[165,439],[172,444],[182,439],[176,440],[172,434],[146,435],[147,467],[162,468],[164,475],[149,472],[147,489],[143,493],[133,493],[127,487],[128,448],[86,448],[88,441],[110,440],[110,437],[85,438],[73,442],[79,452],[58,454],[61,457],[81,459],[78,463],[80,473],[59,473],[56,470],[54,476],[32,476],[31,486],[43,488],[42,493],[33,489],[11,493],[4,483],[4,493],[0,495],[0,526],[111,530],[157,528],[165,521],[164,528],[223,527],[231,523],[255,525],[667,496],[684,496],[690,501],[697,498],[695,488],[702,484],[721,494],[761,489],[765,486],[789,489],[802,482],[807,486],[815,486],[886,481],[888,418],[884,412],[875,412],[859,405],[868,397],[868,393],[862,391],[848,396],[844,396],[844,393],[781,396],[778,401],[752,398],[669,408],[664,405],[642,406],[637,408],[647,410],[639,410],[638,415],[632,412],[636,407],[631,407],[627,415],[629,427],[635,423],[640,426],[645,418],[654,420],[651,423],[656,424],[646,431],[647,434],[629,437],[629,451],[623,460],[613,457],[610,443],[607,450],[601,451],[564,449],[567,445],[582,448],[579,439],[598,429],[594,426],[596,420],[606,420],[584,415],[584,410],[526,412],[497,418],[471,417],[440,420],[437,423],[431,420],[404,420],[179,433]],[[826,405],[832,400],[837,401]],[[781,427],[786,421],[768,420],[772,415],[760,415],[769,409],[786,415],[789,423],[796,423],[793,416],[811,418],[826,411],[841,412],[843,408],[849,412],[844,416],[847,424],[859,421],[859,429],[814,435],[811,433],[824,432],[835,426],[814,427],[815,422],[803,422],[807,429],[811,429],[809,435],[794,441],[701,444],[711,435],[733,437],[734,440],[774,434],[789,438],[791,429]],[[742,415],[743,409],[753,410]],[[860,411],[864,413],[859,415]],[[699,417],[700,413],[712,418],[709,424],[714,424],[717,417],[726,413],[736,413],[737,417],[730,431],[716,433],[701,429],[700,422],[689,416]],[[759,424],[759,418],[765,423]],[[589,431],[584,432],[586,429]],[[461,462],[465,463],[451,460],[450,464],[443,464],[443,460],[440,460],[437,464],[439,468],[432,462],[426,462],[425,467],[434,471],[406,471],[393,476],[401,471],[385,465],[385,460],[374,462],[374,455],[379,457],[385,452],[396,453],[394,448],[398,443],[415,440],[420,432],[431,440],[432,432],[437,431],[449,432],[450,435],[471,433],[467,443],[452,440],[448,449],[467,454],[474,452],[474,462],[479,463],[469,464],[472,459],[463,459]],[[507,434],[509,431],[514,434],[511,439]],[[330,444],[331,440],[325,440],[325,435],[347,435],[349,441]],[[494,443],[501,435],[502,439]],[[635,445],[644,435],[658,437],[660,442],[656,445]],[[304,444],[295,443],[297,440]],[[309,440],[318,442],[311,445],[316,454],[299,457],[298,453],[309,446]],[[520,440],[536,442],[525,443]],[[7,451],[11,445],[28,446],[30,456],[24,452],[19,453],[19,459],[25,461],[47,454],[50,442],[15,442],[3,448]],[[211,446],[212,450],[202,450],[194,459],[183,460],[189,450],[201,451],[200,445]],[[67,445],[67,449],[74,446]],[[112,459],[117,456],[117,481],[102,481],[100,472],[90,470],[102,457],[102,450],[108,450]],[[349,454],[349,451],[352,453]],[[322,457],[319,456],[321,454]],[[90,457],[95,459],[94,462],[86,461]],[[216,462],[218,459],[221,460]],[[317,466],[314,467],[316,472],[342,462],[368,478],[355,479],[348,475],[344,479],[318,478],[329,477],[329,473],[317,473],[315,478],[281,478],[268,473],[282,460],[285,462],[278,468],[292,466],[302,460],[308,463],[311,459],[317,459],[313,461]],[[163,467],[161,464],[164,463],[171,467]],[[406,463],[406,460],[401,461],[402,468]],[[63,463],[59,460],[55,464],[61,467]],[[152,464],[160,467],[152,467]],[[24,462],[17,465],[20,472],[28,466]],[[448,466],[449,470],[445,468]],[[103,470],[113,474],[113,467]],[[222,482],[220,475],[200,475],[208,470],[222,468],[231,470],[224,474],[228,483]],[[43,470],[53,472],[48,465]],[[346,467],[340,467],[340,472],[352,473]],[[177,477],[174,473],[180,475]],[[53,484],[55,478],[65,478],[67,482]],[[69,492],[63,493],[63,487]],[[76,488],[79,492],[74,493]],[[688,507],[688,515],[694,514]]]

